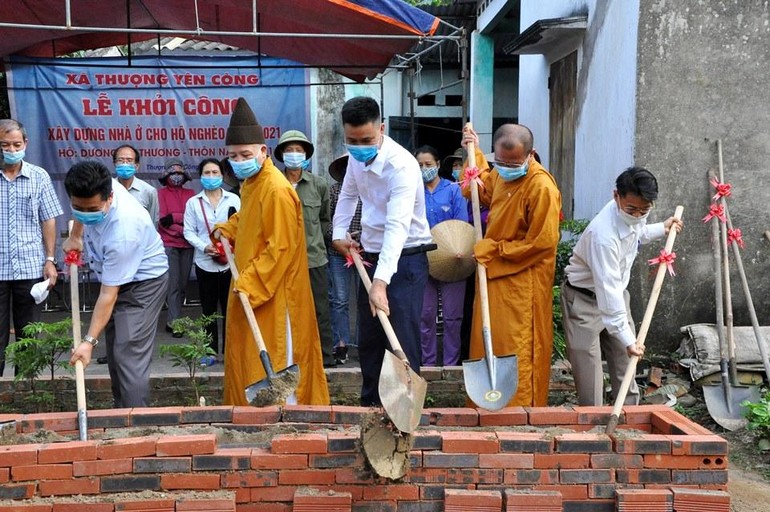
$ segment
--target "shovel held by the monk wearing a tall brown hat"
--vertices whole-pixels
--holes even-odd
[[[238,268],[235,266],[230,243],[227,240],[223,240],[222,247],[227,255],[227,263],[230,265],[233,281],[237,281],[240,274],[238,273]],[[267,353],[265,340],[262,338],[262,332],[259,330],[257,319],[254,316],[254,310],[251,309],[251,304],[249,304],[249,297],[239,290],[238,298],[241,300],[243,312],[246,314],[246,321],[249,322],[251,333],[254,335],[254,340],[257,342],[259,360],[262,362],[262,367],[267,374],[267,377],[264,379],[246,387],[246,401],[250,405],[257,407],[282,404],[286,402],[286,399],[297,389],[297,384],[299,384],[299,366],[293,364],[277,373],[273,371],[273,363],[270,362],[270,354]]]

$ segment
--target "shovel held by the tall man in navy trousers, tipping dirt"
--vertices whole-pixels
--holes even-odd
[[[361,276],[361,281],[364,283],[364,288],[369,293],[372,281],[369,279],[369,274],[366,273],[361,257],[355,250],[351,250],[350,254],[356,264],[358,275]],[[382,329],[385,331],[390,342],[390,348],[393,350],[393,352],[386,350],[382,359],[380,382],[377,386],[382,407],[397,429],[401,432],[411,433],[420,424],[428,383],[409,366],[409,359],[401,349],[401,343],[398,341],[393,326],[390,325],[388,315],[378,309],[377,318],[380,319]]]

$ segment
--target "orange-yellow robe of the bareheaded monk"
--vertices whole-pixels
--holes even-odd
[[[489,207],[487,231],[474,248],[487,269],[492,346],[496,356],[516,354],[519,385],[509,406],[545,406],[553,351],[552,290],[559,243],[561,193],[534,158],[527,174],[504,181],[480,151],[476,163]],[[463,191],[470,198],[470,187]],[[473,304],[470,357],[484,357],[479,290]]]

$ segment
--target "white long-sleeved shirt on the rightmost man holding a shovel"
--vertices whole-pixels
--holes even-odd
[[[607,332],[628,347],[636,343],[628,325],[623,292],[631,279],[640,244],[662,238],[666,229],[662,222],[628,226],[620,218],[618,205],[611,200],[594,217],[575,244],[569,265],[564,269],[573,286],[591,290]]]

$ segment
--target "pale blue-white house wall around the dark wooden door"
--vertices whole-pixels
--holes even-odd
[[[539,19],[588,14],[576,48],[575,218],[591,218],[610,199],[617,175],[634,163],[639,0],[521,0],[521,30]],[[522,55],[519,122],[549,155],[548,75],[564,55]],[[550,60],[549,60],[550,58]]]

